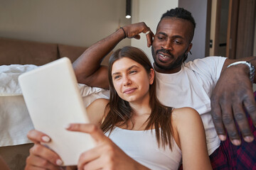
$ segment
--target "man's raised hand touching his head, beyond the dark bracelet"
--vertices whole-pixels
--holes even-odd
[[[127,38],[140,39],[140,33],[146,33],[146,42],[147,46],[150,47],[153,42],[154,33],[150,30],[146,23],[134,23],[128,26],[124,26],[124,32],[127,35]]]

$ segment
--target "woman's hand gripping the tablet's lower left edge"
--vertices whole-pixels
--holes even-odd
[[[40,144],[40,142],[50,142],[50,137],[37,130],[28,132],[28,139],[35,143],[30,149],[30,154],[26,159],[25,170],[28,169],[50,169],[60,170],[63,164],[58,154],[51,149]]]

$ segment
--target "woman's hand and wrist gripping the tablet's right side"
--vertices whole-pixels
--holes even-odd
[[[67,130],[89,133],[96,147],[83,152],[78,161],[78,169],[147,169],[125,154],[122,149],[106,137],[97,125],[70,124]],[[81,134],[82,135],[82,134]]]

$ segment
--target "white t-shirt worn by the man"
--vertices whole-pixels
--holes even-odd
[[[174,108],[191,107],[201,115],[209,155],[220,146],[210,115],[210,96],[225,60],[225,57],[205,57],[183,64],[174,74],[156,72],[156,94],[161,103]]]

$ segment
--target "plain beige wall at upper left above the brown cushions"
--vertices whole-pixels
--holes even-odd
[[[125,18],[125,0],[0,0],[0,4],[0,37],[5,38],[90,46],[131,23]],[[127,39],[119,46],[130,44]]]

